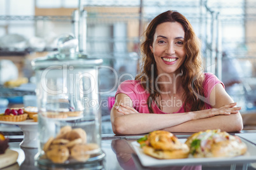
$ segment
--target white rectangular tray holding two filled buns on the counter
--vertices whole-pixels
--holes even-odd
[[[139,147],[137,141],[133,141],[132,147],[141,161],[143,166],[187,166],[187,165],[202,165],[202,164],[238,164],[245,162],[255,162],[256,160],[256,146],[249,143],[246,140],[243,142],[247,145],[248,149],[245,155],[238,157],[225,157],[225,158],[187,158],[187,159],[155,159],[143,153],[143,150]],[[185,142],[186,139],[180,139],[181,142]]]

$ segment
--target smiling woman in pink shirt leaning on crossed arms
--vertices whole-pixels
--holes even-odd
[[[241,107],[215,75],[203,73],[200,48],[185,16],[166,11],[155,17],[141,44],[141,73],[118,87],[111,110],[113,132],[241,131]]]

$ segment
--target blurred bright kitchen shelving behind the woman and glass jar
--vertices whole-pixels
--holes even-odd
[[[204,71],[224,82],[242,107],[245,129],[254,129],[253,0],[0,0],[1,112],[10,106],[35,105],[31,60],[57,51],[57,38],[73,34],[80,39],[83,52],[103,58],[99,69],[103,133],[113,133],[110,107],[117,86],[138,73],[143,32],[152,18],[167,10],[188,18],[202,42]],[[82,32],[79,18],[86,28]]]

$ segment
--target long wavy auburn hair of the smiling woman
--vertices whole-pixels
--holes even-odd
[[[182,96],[183,103],[189,103],[184,107],[185,112],[203,110],[206,108],[203,100],[200,100],[198,96],[204,96],[203,89],[203,67],[201,58],[201,42],[196,36],[192,25],[188,22],[185,16],[181,15],[177,11],[166,11],[153,18],[149,23],[145,31],[145,41],[141,44],[142,65],[141,72],[135,77],[136,80],[140,80],[143,88],[145,88],[150,96],[147,99],[148,110],[153,113],[152,102],[155,101],[157,106],[157,98],[160,96],[160,89],[158,83],[155,83],[157,79],[157,65],[150,49],[153,44],[153,36],[157,25],[164,22],[178,22],[181,23],[185,31],[184,48],[185,48],[185,61],[179,68],[183,71],[181,76],[181,84],[184,89]]]

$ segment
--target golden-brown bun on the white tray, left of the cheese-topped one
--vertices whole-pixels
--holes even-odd
[[[153,131],[140,138],[138,143],[146,155],[157,159],[182,159],[189,154],[187,145],[168,131]]]

